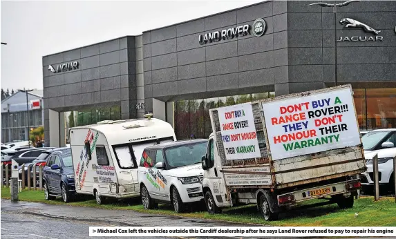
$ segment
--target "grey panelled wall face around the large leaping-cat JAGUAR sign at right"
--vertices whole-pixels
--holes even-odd
[[[309,6],[315,1],[287,1],[287,73],[284,93],[334,85],[334,13],[332,8]],[[341,1],[340,1],[341,2]],[[381,30],[384,41],[337,42],[339,84],[355,88],[396,86],[396,2],[361,1],[338,8],[339,37],[375,37],[361,28],[345,28],[339,21],[351,18]]]

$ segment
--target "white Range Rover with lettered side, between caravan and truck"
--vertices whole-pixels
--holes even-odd
[[[180,213],[187,204],[203,200],[201,158],[206,148],[207,140],[183,140],[144,149],[138,169],[144,209],[164,202]]]

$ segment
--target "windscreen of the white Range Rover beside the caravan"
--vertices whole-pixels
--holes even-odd
[[[169,169],[200,163],[202,155],[205,155],[206,146],[207,142],[199,142],[165,149]]]

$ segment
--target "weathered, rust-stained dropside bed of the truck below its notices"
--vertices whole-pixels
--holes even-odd
[[[356,175],[366,170],[362,146],[333,149],[325,152],[272,160],[267,140],[262,101],[252,102],[254,124],[261,157],[245,160],[226,160],[218,120],[218,111],[211,110],[212,128],[216,134],[225,184],[232,188],[271,187],[283,189],[321,180]]]

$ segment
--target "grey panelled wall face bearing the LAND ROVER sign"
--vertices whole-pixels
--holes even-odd
[[[274,90],[275,78],[283,77],[274,64],[287,55],[281,51],[286,44],[274,44],[275,36],[287,42],[287,35],[281,34],[286,29],[274,24],[274,16],[282,13],[277,5],[265,2],[143,32],[146,111],[153,110],[152,98],[169,102]],[[261,37],[198,43],[198,35],[252,24],[257,18],[267,23]]]

